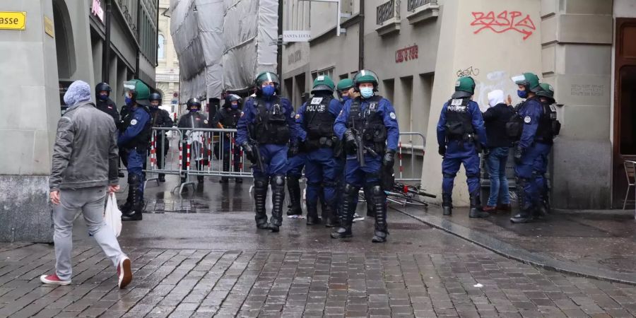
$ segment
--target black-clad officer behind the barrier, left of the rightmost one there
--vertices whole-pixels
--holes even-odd
[[[204,134],[201,131],[189,131],[187,129],[197,128],[209,128],[208,119],[204,114],[201,114],[201,101],[198,98],[190,98],[187,103],[188,113],[182,115],[179,118],[178,128],[184,128],[181,130],[183,140],[190,145],[190,166],[192,163],[196,167],[196,170],[202,170],[205,165],[208,165],[208,159],[206,157],[207,144],[203,138]],[[203,150],[203,151],[201,151]],[[187,167],[187,147],[182,147],[182,167]],[[199,183],[204,182],[204,176],[198,175],[196,179]],[[185,182],[186,177],[181,177],[181,182]]]

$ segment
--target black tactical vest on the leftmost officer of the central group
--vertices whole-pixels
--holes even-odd
[[[264,100],[258,97],[254,98],[254,108],[257,110],[257,117],[252,137],[261,144],[284,145],[288,143],[291,131],[285,117],[285,109],[281,105],[281,98],[273,98],[269,110]]]

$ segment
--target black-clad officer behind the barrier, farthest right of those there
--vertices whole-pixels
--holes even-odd
[[[242,98],[239,95],[228,94],[225,96],[223,108],[214,115],[213,126],[220,129],[236,129],[241,118]],[[230,171],[230,153],[233,153],[234,172],[240,172],[241,152],[233,142],[234,138],[230,134],[223,135],[223,171]],[[221,177],[220,183],[227,183],[228,177]],[[243,179],[236,178],[236,183],[242,183]]]

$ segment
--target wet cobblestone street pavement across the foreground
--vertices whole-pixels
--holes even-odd
[[[182,197],[170,194],[170,181],[149,184],[151,213],[142,221],[124,223],[120,242],[134,269],[126,290],[116,288],[112,264],[78,218],[69,286],[39,281],[42,273],[52,272],[52,246],[0,244],[0,317],[636,315],[633,285],[507,259],[399,211],[389,212],[386,244],[370,242],[369,219],[355,223],[355,236],[343,241],[332,240],[323,226],[307,227],[305,220],[288,218],[281,232],[271,233],[254,226],[249,180],[219,185],[206,179],[202,189]],[[435,208],[428,213],[434,215]],[[459,222],[460,214],[457,209],[453,221]],[[474,224],[493,231],[505,226],[495,218],[479,222]],[[516,234],[525,238],[519,242],[530,244],[537,236],[524,233]],[[600,239],[590,233],[566,237]],[[558,251],[554,245],[549,249]],[[576,249],[565,251],[563,255]]]

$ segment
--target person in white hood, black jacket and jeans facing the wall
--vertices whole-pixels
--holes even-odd
[[[506,133],[506,123],[514,114],[510,105],[504,102],[502,90],[488,93],[490,108],[483,113],[488,150],[490,154],[485,158],[490,176],[490,197],[483,211],[510,211],[510,193],[506,177],[506,163],[512,141]],[[497,205],[497,201],[500,205]]]

